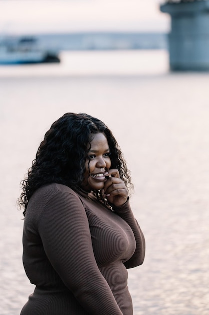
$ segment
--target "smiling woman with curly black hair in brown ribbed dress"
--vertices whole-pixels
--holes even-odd
[[[21,315],[131,315],[127,270],[144,237],[128,202],[126,163],[108,127],[67,113],[23,181],[23,263],[36,285]]]

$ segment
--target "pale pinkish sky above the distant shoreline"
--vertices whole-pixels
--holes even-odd
[[[0,0],[1,33],[163,31],[163,0]]]

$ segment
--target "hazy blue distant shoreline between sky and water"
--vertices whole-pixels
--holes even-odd
[[[25,34],[7,35],[21,36]],[[167,34],[163,32],[37,33],[27,36],[36,37],[47,49],[57,50],[168,49]]]

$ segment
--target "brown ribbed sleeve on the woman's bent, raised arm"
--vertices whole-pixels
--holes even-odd
[[[145,257],[145,239],[138,222],[129,205],[129,199],[120,207],[113,206],[114,211],[128,223],[136,240],[136,250],[133,256],[124,263],[126,268],[133,268],[143,263]]]

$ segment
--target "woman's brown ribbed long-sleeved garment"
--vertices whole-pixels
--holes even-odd
[[[128,201],[114,211],[64,185],[37,190],[23,231],[36,289],[21,315],[132,315],[126,268],[142,264],[144,237]]]

